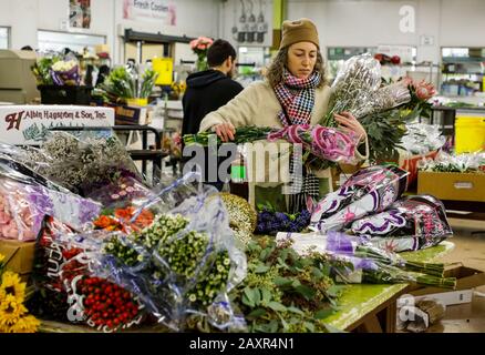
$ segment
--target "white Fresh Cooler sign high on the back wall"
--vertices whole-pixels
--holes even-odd
[[[175,4],[164,0],[124,0],[123,19],[152,20],[162,24],[176,26]]]

